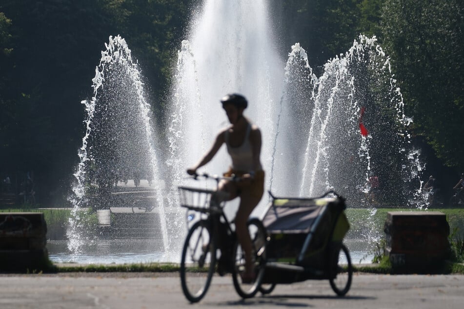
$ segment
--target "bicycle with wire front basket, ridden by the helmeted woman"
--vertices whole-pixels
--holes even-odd
[[[242,298],[253,297],[264,277],[267,232],[259,219],[248,220],[256,279],[252,283],[245,283],[241,277],[245,265],[244,252],[236,239],[233,222],[227,219],[223,211],[228,193],[217,190],[220,180],[240,181],[240,178],[202,174],[193,176],[193,179],[198,179],[198,176],[214,179],[216,190],[179,187],[181,206],[187,208],[187,226],[190,225],[182,249],[182,291],[190,302],[199,302],[217,270],[220,275],[232,274],[234,288]],[[199,218],[197,214],[200,214]]]

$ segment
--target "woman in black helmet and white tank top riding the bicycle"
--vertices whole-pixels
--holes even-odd
[[[187,173],[196,174],[197,169],[211,161],[222,144],[226,144],[232,166],[224,176],[235,175],[242,177],[242,180],[239,182],[222,180],[218,190],[229,193],[227,200],[240,197],[240,205],[235,216],[235,232],[245,253],[245,272],[242,273],[242,281],[249,283],[254,281],[255,272],[252,244],[246,223],[264,192],[264,171],[260,160],[261,131],[243,116],[243,111],[248,106],[245,97],[229,94],[222,97],[221,103],[231,125],[219,132],[211,148],[195,166],[187,170]]]

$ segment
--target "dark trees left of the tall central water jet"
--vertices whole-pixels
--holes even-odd
[[[3,0],[0,3],[0,177],[34,171],[38,200],[65,196],[84,126],[82,99],[110,35],[126,38],[162,104],[194,1]],[[180,44],[180,43],[179,43]],[[20,190],[18,187],[17,190]]]

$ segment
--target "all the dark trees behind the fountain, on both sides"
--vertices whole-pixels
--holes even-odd
[[[83,136],[82,99],[110,35],[139,61],[162,123],[177,50],[201,0],[2,0],[0,177],[34,171],[41,203],[62,203]],[[461,0],[268,1],[282,57],[295,42],[316,74],[360,33],[376,35],[414,118],[414,142],[443,188],[464,171]]]

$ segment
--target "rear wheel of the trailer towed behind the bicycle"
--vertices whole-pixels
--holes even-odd
[[[353,277],[353,266],[351,265],[351,258],[348,249],[342,244],[339,253],[335,256],[336,261],[332,261],[335,276],[329,279],[332,290],[338,295],[345,295],[351,287],[351,280]]]

